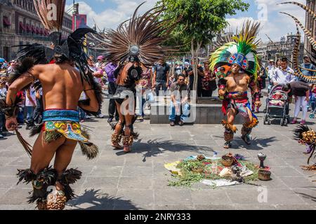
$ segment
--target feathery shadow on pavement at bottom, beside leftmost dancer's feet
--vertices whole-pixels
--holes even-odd
[[[83,195],[68,202],[68,205],[74,210],[113,210],[116,206],[121,207],[122,209],[140,209],[136,207],[131,200],[121,200],[120,197],[110,196],[100,192],[100,190],[94,189],[85,190]]]

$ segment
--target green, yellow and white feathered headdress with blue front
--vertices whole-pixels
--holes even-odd
[[[211,55],[210,65],[214,71],[219,66],[238,64],[243,71],[257,78],[259,68],[256,48],[259,41],[256,41],[259,22],[246,21],[242,31],[232,37],[232,42],[225,43]]]

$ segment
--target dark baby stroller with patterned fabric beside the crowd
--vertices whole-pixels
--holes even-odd
[[[289,100],[287,93],[282,91],[283,85],[272,87],[266,106],[266,113],[263,120],[264,125],[271,125],[271,119],[280,119],[281,126],[287,126],[289,123]]]

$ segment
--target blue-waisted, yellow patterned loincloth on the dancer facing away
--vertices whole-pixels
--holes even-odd
[[[61,137],[89,143],[87,134],[81,130],[79,112],[72,110],[46,110],[43,113],[42,131],[45,140],[50,142]]]

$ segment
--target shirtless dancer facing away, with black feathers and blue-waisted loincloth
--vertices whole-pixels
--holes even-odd
[[[60,2],[60,1],[59,1]],[[62,10],[63,12],[63,10]],[[61,13],[63,14],[63,13]],[[62,20],[61,20],[62,21]],[[54,32],[55,48],[53,58],[48,57],[48,49],[44,45],[29,45],[21,50],[18,58],[20,67],[11,74],[11,85],[6,97],[6,128],[16,130],[15,104],[18,91],[39,80],[43,88],[44,114],[43,123],[37,127],[39,137],[34,143],[31,153],[30,169],[19,170],[19,182],[32,182],[33,194],[29,202],[37,202],[39,209],[64,209],[65,202],[74,196],[70,184],[81,177],[77,169],[67,169],[77,142],[88,158],[96,157],[98,149],[88,141],[79,125],[77,106],[91,112],[100,108],[96,83],[86,63],[86,55],[81,38],[92,29],[77,29],[67,40],[60,41],[60,32]],[[27,52],[27,57],[24,57]],[[41,52],[41,54],[40,54]],[[84,59],[78,59],[81,56]],[[45,64],[46,61],[55,64]],[[33,64],[32,64],[33,62]],[[41,62],[38,64],[37,62]],[[77,69],[79,67],[80,69]],[[81,92],[85,92],[88,103],[78,103]],[[53,156],[53,169],[48,167]],[[53,186],[53,192],[47,192]]]

